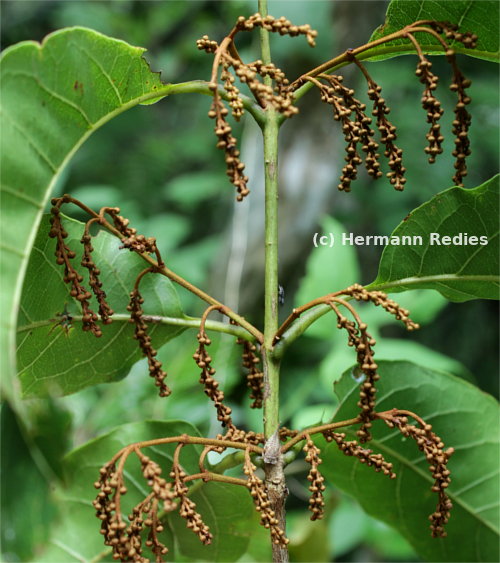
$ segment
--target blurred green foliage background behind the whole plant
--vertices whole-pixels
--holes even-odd
[[[273,38],[276,64],[295,78],[304,70],[364,43],[383,23],[385,1],[269,1],[269,12],[294,23],[310,23],[319,32],[317,48],[303,38]],[[220,40],[240,14],[256,11],[254,1],[4,1],[2,48],[22,40],[42,40],[66,26],[87,26],[148,49],[146,58],[165,82],[208,79],[211,59],[196,49],[204,34]],[[256,35],[242,35],[243,58],[258,57]],[[434,59],[442,77],[438,96],[445,108],[443,129],[451,130],[453,95],[447,88],[448,65]],[[466,187],[496,173],[498,155],[498,71],[477,59],[460,57],[472,78],[471,142],[473,155]],[[381,248],[314,249],[315,232],[348,231],[390,234],[415,207],[452,185],[453,158],[448,133],[445,152],[430,166],[423,152],[425,112],[421,84],[414,75],[415,58],[400,57],[368,65],[382,85],[398,126],[408,183],[396,193],[384,179],[373,182],[361,173],[352,193],[337,191],[343,165],[342,136],[330,109],[310,92],[300,114],[281,132],[280,155],[280,283],[285,288],[285,317],[296,305],[340,289],[354,281],[368,283],[377,272]],[[345,82],[365,86],[354,69],[343,69]],[[174,271],[208,289],[218,299],[262,325],[263,185],[260,133],[243,119],[235,126],[242,159],[251,178],[252,194],[236,204],[227,182],[223,155],[215,148],[210,99],[172,96],[153,106],[138,107],[98,131],[73,159],[57,186],[98,208],[117,205],[133,226],[157,237]],[[54,194],[57,195],[57,194]],[[179,291],[188,314],[203,305]],[[405,334],[378,310],[362,316],[379,340],[377,358],[410,359],[476,382],[498,395],[497,305],[473,301],[447,304],[433,292],[400,294],[422,329]],[[215,417],[207,420],[206,398],[197,390],[198,368],[191,355],[193,333],[187,331],[160,352],[169,372],[173,396],[159,400],[145,382],[144,362],[125,380],[91,388],[53,401],[30,401],[30,432],[26,433],[7,405],[2,407],[2,544],[5,561],[36,561],[47,530],[57,518],[50,486],[57,482],[58,460],[64,453],[112,427],[144,418],[183,418],[204,433],[215,434]],[[239,357],[233,341],[214,337],[217,376],[234,408],[235,421],[259,431],[260,413],[249,412]],[[289,350],[283,365],[282,423],[303,427],[327,420],[335,409],[332,383],[354,363],[335,323],[321,319]],[[288,500],[291,557],[294,561],[418,561],[395,532],[364,515],[340,491],[330,491],[328,518],[311,524],[307,504],[306,468],[289,467]],[[19,485],[18,484],[22,484]],[[20,502],[21,499],[21,502]],[[255,549],[252,557],[266,561]],[[246,558],[245,561],[249,559]]]

